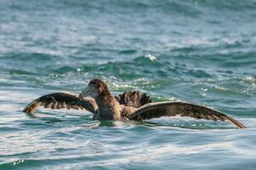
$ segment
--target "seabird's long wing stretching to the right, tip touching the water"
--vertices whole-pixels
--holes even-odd
[[[206,106],[195,105],[185,102],[157,102],[144,105],[129,116],[130,120],[145,120],[160,116],[189,116],[196,119],[207,119],[212,121],[230,121],[236,127],[245,128],[240,122],[230,116],[214,111]]]

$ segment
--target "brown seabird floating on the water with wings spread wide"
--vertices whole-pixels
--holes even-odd
[[[90,96],[90,97],[88,97]],[[129,91],[113,96],[108,86],[100,79],[91,80],[82,93],[46,94],[26,106],[23,112],[34,113],[40,106],[49,109],[86,110],[93,113],[92,120],[143,121],[160,116],[189,116],[196,119],[232,122],[245,128],[241,122],[203,105],[183,101],[152,102],[147,94]]]

